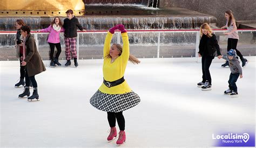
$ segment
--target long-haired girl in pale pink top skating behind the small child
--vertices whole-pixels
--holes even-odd
[[[248,60],[242,57],[241,52],[237,50],[237,43],[239,40],[239,36],[237,31],[237,25],[235,25],[235,18],[231,10],[227,10],[225,12],[225,18],[227,19],[226,25],[222,26],[221,29],[227,28],[227,33],[225,33],[225,35],[228,37],[227,52],[230,51],[231,49],[235,50],[235,52],[237,52],[237,55],[242,61],[242,67],[245,67],[248,63]],[[226,66],[228,66],[228,60],[225,62],[225,64],[221,65],[221,67],[226,67]]]

